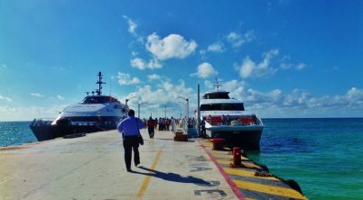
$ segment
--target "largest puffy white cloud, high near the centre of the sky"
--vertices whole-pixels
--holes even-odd
[[[154,32],[147,37],[146,50],[151,52],[156,59],[184,59],[191,55],[197,48],[197,43],[193,40],[186,41],[179,34],[170,34],[160,40]]]

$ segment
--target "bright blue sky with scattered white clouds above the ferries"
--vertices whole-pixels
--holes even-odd
[[[363,117],[363,2],[0,0],[0,121],[97,88],[140,116],[221,89],[262,118]],[[166,112],[165,112],[166,111]]]

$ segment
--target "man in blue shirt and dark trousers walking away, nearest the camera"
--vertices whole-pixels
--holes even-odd
[[[140,129],[144,128],[144,123],[137,117],[135,117],[135,111],[130,109],[128,111],[128,117],[117,124],[117,131],[122,133],[125,150],[125,164],[127,171],[131,170],[131,157],[132,150],[134,150],[134,162],[135,166],[140,164],[139,155],[139,134]]]

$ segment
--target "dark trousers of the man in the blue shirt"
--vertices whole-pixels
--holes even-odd
[[[125,136],[124,137],[124,150],[125,150],[125,163],[127,170],[131,169],[132,150],[134,149],[134,162],[135,165],[140,163],[139,156],[139,141],[138,136]]]

